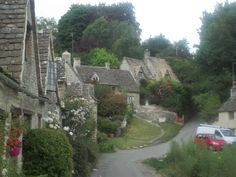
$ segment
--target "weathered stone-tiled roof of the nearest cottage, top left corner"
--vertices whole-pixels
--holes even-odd
[[[20,80],[28,0],[0,0],[0,66]]]

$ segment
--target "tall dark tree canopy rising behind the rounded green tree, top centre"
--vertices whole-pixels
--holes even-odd
[[[99,4],[98,6],[77,4],[72,5],[70,10],[59,20],[57,48],[61,51],[65,49],[71,49],[72,33],[75,49],[83,48],[81,47],[81,43],[86,44],[86,47],[83,48],[83,50],[87,50],[87,48],[90,47],[99,47],[98,43],[100,43],[101,40],[104,40],[102,39],[102,37],[99,40],[95,39],[94,41],[91,38],[82,38],[82,36],[85,29],[87,31],[85,32],[85,34],[93,33],[93,36],[94,34],[99,32],[101,34],[103,30],[102,28],[106,28],[107,25],[105,24],[106,22],[104,21],[104,19],[100,19],[100,21],[97,21],[97,19],[100,17],[104,17],[104,19],[109,23],[112,23],[113,21],[127,22],[129,25],[133,26],[137,34],[140,35],[141,30],[139,29],[139,24],[136,22],[134,16],[134,8],[131,3],[119,3],[109,6],[105,4]],[[103,25],[99,27],[99,30],[92,29],[94,26],[98,27],[99,24]],[[87,28],[88,26],[90,27]],[[106,38],[110,38],[110,36]]]

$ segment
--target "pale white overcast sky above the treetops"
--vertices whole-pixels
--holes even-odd
[[[189,47],[199,44],[197,30],[201,26],[203,11],[212,12],[217,3],[226,0],[35,0],[37,17],[54,17],[59,20],[71,4],[112,4],[131,2],[136,20],[145,40],[162,33],[171,42],[186,38]],[[235,2],[236,0],[228,0]]]

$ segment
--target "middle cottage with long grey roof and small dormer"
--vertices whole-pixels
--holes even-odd
[[[116,93],[125,92],[127,104],[139,106],[139,87],[129,71],[110,69],[108,63],[105,67],[77,65],[75,68],[83,83],[110,86]]]

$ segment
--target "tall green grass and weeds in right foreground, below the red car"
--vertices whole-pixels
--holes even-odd
[[[152,158],[145,160],[145,163],[167,177],[234,177],[235,152],[234,146],[226,147],[220,153],[214,153],[192,142],[182,146],[174,142],[164,159]]]

